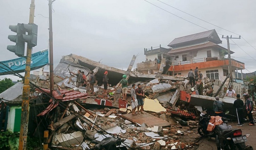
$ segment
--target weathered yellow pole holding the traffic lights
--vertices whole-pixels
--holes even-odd
[[[35,15],[35,0],[31,0],[29,23],[34,23]],[[20,134],[19,134],[19,150],[26,150],[27,136],[28,136],[28,120],[29,120],[29,94],[30,94],[30,64],[31,64],[32,47],[27,47],[26,54],[26,68],[25,78],[22,93],[22,107],[21,107],[21,120],[20,120]]]

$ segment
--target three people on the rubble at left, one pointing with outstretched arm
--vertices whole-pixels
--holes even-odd
[[[70,71],[70,73],[77,76],[76,87],[90,85],[91,93],[94,93],[93,85],[95,83],[94,71],[90,71],[89,79],[84,74],[84,71],[78,70],[77,73]]]

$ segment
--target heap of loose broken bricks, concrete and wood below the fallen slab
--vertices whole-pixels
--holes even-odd
[[[63,81],[67,79],[69,82],[64,84]],[[194,113],[179,112],[180,108],[187,106],[185,104],[187,98],[183,103],[180,100],[183,92],[188,95],[196,94],[195,90],[191,90],[188,80],[172,82],[156,78],[149,82],[135,83],[142,85],[147,98],[144,98],[145,114],[132,116],[129,94],[127,101],[118,97],[119,102],[127,104],[123,108],[118,108],[112,105],[117,94],[115,86],[108,87],[107,90],[107,93],[113,93],[113,95],[102,95],[103,86],[97,85],[94,86],[95,94],[88,94],[88,89],[84,87],[71,89],[70,86],[75,84],[72,79],[73,77],[61,79],[60,83],[62,84],[56,84],[58,85],[56,88],[59,88],[59,95],[84,95],[81,95],[83,98],[69,99],[69,96],[62,96],[62,99],[57,98],[60,100],[58,103],[59,116],[53,119],[55,121],[51,121],[48,126],[51,130],[48,141],[52,141],[54,148],[73,147],[85,150],[94,146],[90,143],[91,140],[101,141],[110,136],[126,139],[123,146],[128,149],[138,147],[140,149],[181,149],[185,147],[189,149],[196,144],[195,139],[199,135],[196,130],[192,129],[197,127],[196,121],[194,121],[197,110]],[[46,89],[49,85],[48,79],[39,76],[32,76],[31,82]],[[128,86],[128,93],[130,93],[130,89],[131,85]],[[72,94],[72,92],[78,92],[78,94]],[[64,100],[65,97],[66,100]],[[99,103],[97,100],[101,102]],[[105,101],[104,104],[102,100]],[[106,104],[106,101],[111,103]],[[52,108],[49,110],[49,108],[51,107],[46,108],[44,113],[38,114],[38,116],[45,115],[45,111],[49,113],[53,110]]]

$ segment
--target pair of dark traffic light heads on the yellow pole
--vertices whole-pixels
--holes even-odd
[[[24,56],[25,53],[25,42],[28,43],[28,48],[35,47],[37,45],[37,25],[31,24],[20,24],[9,25],[11,31],[16,32],[17,35],[8,35],[8,39],[12,42],[16,42],[16,45],[8,45],[7,49],[14,52],[17,56]],[[26,32],[28,34],[26,35]]]

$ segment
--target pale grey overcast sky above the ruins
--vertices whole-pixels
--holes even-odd
[[[206,29],[215,29],[219,34],[232,35],[216,26],[205,23],[175,10],[157,0],[147,0],[166,11],[198,24]],[[237,33],[252,46],[256,46],[255,0],[161,0],[168,5],[193,16]],[[35,20],[38,25],[37,46],[33,53],[48,48],[48,1],[35,0]],[[0,61],[17,56],[6,49],[13,44],[9,25],[28,23],[30,0],[5,0],[0,5]],[[145,60],[144,48],[167,45],[177,37],[206,31],[144,0],[56,0],[53,2],[53,57],[56,67],[61,56],[76,54],[100,61],[102,64],[127,69],[132,55],[138,54],[136,64]],[[221,35],[220,38],[221,38]],[[221,39],[227,48],[226,39]],[[234,39],[242,49],[230,48],[234,59],[245,63],[245,68],[254,72],[256,47],[252,48],[243,39]],[[239,57],[239,58],[237,58]],[[136,66],[135,66],[136,67]],[[49,67],[45,67],[49,70]],[[248,73],[243,70],[244,73]],[[0,76],[10,78],[11,76]],[[16,77],[16,79],[18,79]],[[15,78],[14,78],[15,80]]]

